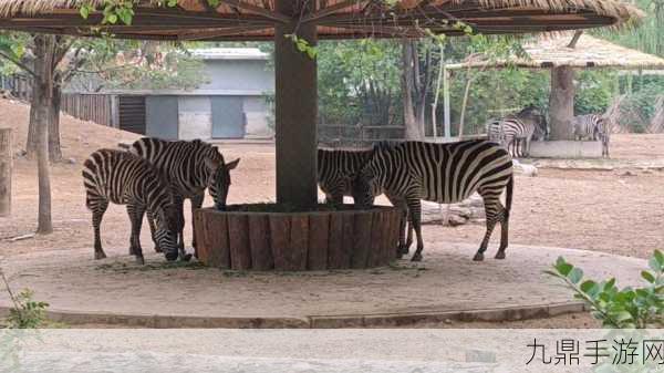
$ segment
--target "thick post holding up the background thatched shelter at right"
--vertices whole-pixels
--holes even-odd
[[[569,66],[551,70],[549,115],[551,139],[574,139],[574,70]]]

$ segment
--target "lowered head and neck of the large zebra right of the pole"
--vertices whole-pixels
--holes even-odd
[[[357,173],[353,183],[355,207],[366,209],[373,206],[375,196],[383,190],[385,158],[390,155],[391,145],[383,142],[374,146],[373,154]]]

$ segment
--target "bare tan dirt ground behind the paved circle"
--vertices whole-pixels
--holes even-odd
[[[17,154],[25,142],[29,107],[0,100],[0,127],[14,128]],[[13,178],[13,214],[0,218],[0,258],[58,249],[92,249],[91,215],[84,206],[81,166],[101,147],[133,142],[136,135],[69,116],[62,117],[62,143],[66,162],[52,166],[54,234],[15,240],[37,227],[37,170],[33,160],[17,156]],[[274,199],[274,149],[272,145],[222,144],[227,160],[240,157],[232,174],[229,203]],[[664,135],[614,135],[615,159],[664,158]],[[539,176],[518,176],[510,221],[510,241],[521,245],[579,248],[646,258],[664,247],[664,172],[652,169],[579,170],[541,168]],[[210,203],[208,197],[207,204]],[[145,227],[147,228],[147,227]],[[189,226],[187,227],[189,228]],[[103,221],[103,244],[128,247],[129,224],[122,206],[111,206]],[[187,240],[190,231],[186,232]],[[484,226],[456,228],[426,226],[428,241],[477,242]],[[144,250],[152,250],[144,229]],[[498,239],[499,235],[494,235]],[[574,319],[589,321],[584,317]],[[518,327],[518,324],[515,324]],[[527,324],[529,325],[529,324]],[[547,323],[538,324],[547,327]],[[458,327],[458,325],[457,325]],[[568,325],[569,327],[569,325]]]

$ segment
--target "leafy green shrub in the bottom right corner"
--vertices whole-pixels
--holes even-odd
[[[664,327],[664,253],[655,250],[650,270],[641,272],[642,288],[619,289],[615,279],[602,282],[583,280],[583,271],[562,257],[546,273],[561,279],[574,291],[574,298],[591,308],[592,315],[605,328],[644,329]]]

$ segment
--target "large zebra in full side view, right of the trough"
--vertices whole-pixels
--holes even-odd
[[[371,190],[375,189],[405,199],[417,235],[413,261],[422,260],[424,248],[421,200],[453,204],[475,191],[485,203],[487,229],[474,260],[484,259],[496,222],[500,222],[502,229],[496,259],[505,258],[513,176],[511,156],[499,144],[490,141],[378,144],[355,182],[355,205],[371,206]],[[504,189],[507,189],[505,207],[500,203]]]

